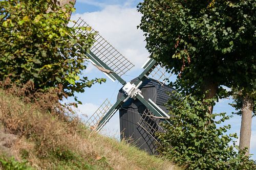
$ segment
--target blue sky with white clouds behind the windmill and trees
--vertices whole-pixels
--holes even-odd
[[[142,0],[141,0],[142,1]],[[71,19],[77,20],[79,17],[89,23],[105,39],[107,39],[121,54],[128,58],[135,67],[132,68],[122,78],[125,81],[131,81],[142,71],[141,66],[149,56],[145,49],[143,32],[137,29],[140,23],[141,14],[137,12],[136,6],[138,0],[77,0],[76,12],[72,14]],[[76,94],[83,103],[78,106],[77,113],[82,119],[87,120],[108,98],[112,104],[115,103],[118,90],[122,87],[120,83],[112,82],[102,72],[88,63],[87,69],[83,72],[89,79],[106,78],[106,83],[93,85],[87,88],[84,93]],[[71,101],[72,99],[68,99]],[[232,99],[222,99],[214,107],[214,112],[226,112],[232,115],[234,109],[228,105]],[[227,133],[237,133],[239,136],[241,126],[241,116],[233,115],[225,124],[231,125]],[[101,130],[101,133],[120,139],[119,135],[119,112],[117,112],[109,123]],[[239,141],[237,142],[239,144]],[[256,160],[256,118],[252,119],[252,134],[250,153],[254,154]]]

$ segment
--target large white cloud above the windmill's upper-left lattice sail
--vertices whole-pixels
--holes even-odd
[[[137,29],[141,15],[136,8],[110,5],[97,12],[72,15],[72,20],[84,19],[107,39],[117,50],[127,57],[136,68],[146,61],[143,32]]]

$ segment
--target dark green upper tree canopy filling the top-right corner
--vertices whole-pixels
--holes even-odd
[[[187,94],[207,82],[255,89],[255,6],[254,0],[145,0],[139,28],[151,57],[181,76],[177,87]]]

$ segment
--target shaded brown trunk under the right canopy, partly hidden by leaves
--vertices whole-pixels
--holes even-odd
[[[212,99],[216,95],[218,90],[218,84],[211,81],[205,81],[205,84],[202,86],[202,92],[205,94],[204,99]],[[207,92],[208,91],[208,92]],[[208,106],[208,113],[212,114],[214,106]]]

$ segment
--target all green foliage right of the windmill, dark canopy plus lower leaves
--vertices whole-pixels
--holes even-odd
[[[228,117],[207,114],[206,105],[209,112],[217,100],[202,99],[230,95],[222,85],[243,90],[243,98],[255,91],[255,7],[254,0],[145,0],[138,5],[147,50],[178,75],[173,85],[185,94],[168,103],[174,125],[160,135],[160,151],[191,169],[236,169],[246,159],[228,145],[236,137],[224,135],[230,127],[215,125],[222,122],[216,116]]]

